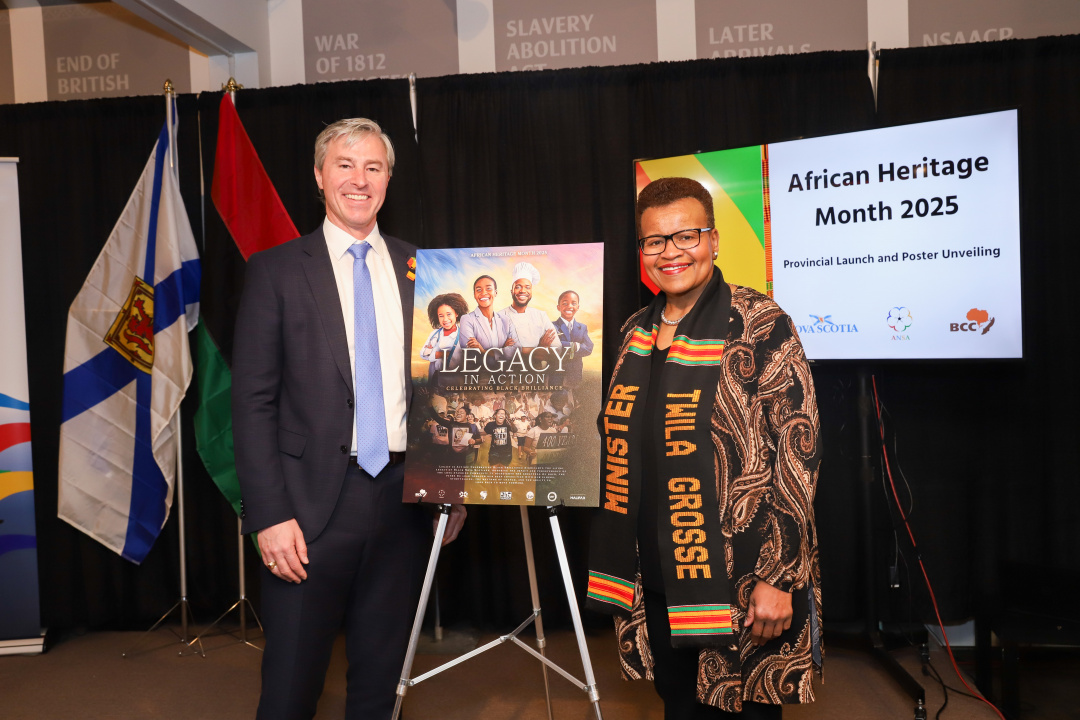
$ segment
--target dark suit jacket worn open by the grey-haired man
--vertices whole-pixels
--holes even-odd
[[[413,337],[416,247],[386,240]],[[353,368],[322,227],[247,261],[232,354],[232,437],[243,532],[296,518],[307,542],[326,527],[350,462]],[[375,332],[373,325],[372,332]],[[413,385],[405,379],[406,403]]]

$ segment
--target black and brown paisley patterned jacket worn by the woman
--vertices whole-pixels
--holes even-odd
[[[622,364],[637,314],[623,326]],[[613,373],[612,373],[613,375]],[[728,712],[745,701],[810,703],[821,674],[821,587],[813,495],[821,462],[818,404],[792,320],[769,297],[731,285],[731,316],[712,436],[724,556],[742,627],[758,579],[792,594],[792,626],[761,647],[741,631],[701,651],[698,699]],[[640,578],[630,617],[616,617],[622,673],[652,679]]]

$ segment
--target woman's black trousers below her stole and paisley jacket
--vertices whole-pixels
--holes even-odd
[[[645,626],[652,650],[657,694],[664,701],[664,720],[780,720],[781,705],[743,703],[742,712],[726,712],[698,702],[698,650],[672,648],[667,622],[667,600],[653,590],[645,590]]]

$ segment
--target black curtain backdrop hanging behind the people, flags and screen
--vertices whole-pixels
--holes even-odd
[[[1069,466],[1076,383],[1066,364],[1075,341],[1066,339],[1065,314],[1077,259],[1067,213],[1076,190],[1078,59],[1078,38],[888,51],[877,112],[861,52],[421,79],[418,145],[402,80],[241,91],[237,106],[300,232],[323,214],[311,171],[315,135],[325,123],[364,114],[383,124],[397,149],[383,231],[427,247],[605,242],[607,370],[617,328],[648,293],[633,252],[633,160],[1020,107],[1025,361],[869,368],[889,412],[890,451],[894,444],[912,487],[922,557],[946,619],[959,620],[972,614],[976,597],[1020,590],[1021,576],[1002,568],[1075,572],[1080,562],[1066,515],[1080,490]],[[180,97],[181,189],[197,237],[205,208],[204,263],[242,272],[208,196],[219,99]],[[0,155],[22,159],[42,615],[62,631],[138,629],[179,596],[175,505],[141,567],[56,519],[67,310],[163,121],[157,97],[0,107]],[[229,307],[239,289],[207,287],[203,302]],[[860,617],[864,602],[855,370],[814,368],[825,443],[815,506],[828,621]],[[192,386],[183,411],[189,596],[206,621],[237,597],[235,519],[194,452],[194,397]],[[882,492],[875,489],[874,498],[885,614],[929,620],[915,571],[901,590],[883,589],[888,566],[897,562],[894,528]],[[561,516],[579,594],[589,516]],[[554,626],[568,625],[546,517],[534,510],[530,518],[544,614]],[[247,558],[253,570],[253,553]],[[248,581],[257,604],[256,575]],[[440,589],[446,623],[504,628],[528,614],[516,511],[470,510],[465,530],[444,553]],[[586,614],[586,622],[608,621]]]

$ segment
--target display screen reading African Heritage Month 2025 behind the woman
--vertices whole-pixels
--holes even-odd
[[[710,190],[725,279],[772,296],[811,359],[1023,356],[1016,110],[635,171],[638,192]]]

